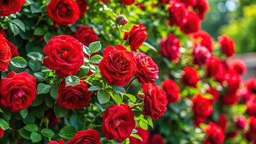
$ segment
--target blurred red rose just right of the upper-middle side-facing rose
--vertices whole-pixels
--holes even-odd
[[[174,61],[175,63],[178,62],[180,57],[180,51],[178,50],[180,45],[180,40],[173,35],[169,34],[167,38],[162,38],[160,41],[161,51],[163,56],[169,58],[170,61]]]

